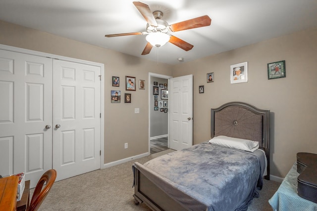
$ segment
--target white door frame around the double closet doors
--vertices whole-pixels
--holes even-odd
[[[4,44],[0,44],[0,49],[100,67],[100,69],[101,69],[101,84],[100,84],[100,88],[101,88],[101,90],[100,90],[100,100],[101,100],[101,102],[100,102],[100,111],[101,111],[100,150],[101,150],[101,156],[100,156],[100,169],[102,169],[102,167],[104,166],[104,157],[105,157],[105,151],[104,151],[104,145],[105,145],[105,135],[104,135],[105,134],[105,99],[104,99],[105,80],[103,78],[103,77],[105,77],[105,64],[91,62],[91,61],[82,60],[82,59],[70,58],[70,57],[66,57],[66,56],[59,56],[59,55],[55,55],[55,54],[51,54],[51,53],[45,53],[45,52],[41,52],[41,51],[35,51],[35,50],[30,50],[30,49],[25,49],[25,48],[20,48],[20,47],[13,47],[13,46],[4,45]],[[52,133],[52,136],[53,136],[53,133]],[[53,163],[52,163],[52,167],[53,167]]]

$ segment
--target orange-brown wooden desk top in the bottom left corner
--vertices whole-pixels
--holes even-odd
[[[15,210],[18,182],[18,176],[0,178],[0,211]]]

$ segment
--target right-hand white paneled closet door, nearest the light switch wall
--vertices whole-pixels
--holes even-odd
[[[53,60],[56,180],[100,169],[101,68]]]

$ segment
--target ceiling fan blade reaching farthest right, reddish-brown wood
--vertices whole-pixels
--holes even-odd
[[[211,18],[208,15],[204,15],[198,18],[193,18],[190,20],[182,21],[179,23],[174,23],[170,25],[170,30],[172,32],[178,32],[186,29],[194,29],[204,26],[210,26]]]

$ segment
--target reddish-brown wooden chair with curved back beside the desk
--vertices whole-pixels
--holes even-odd
[[[33,192],[33,196],[30,202],[30,206],[28,208],[28,211],[37,211],[39,207],[41,206],[42,202],[44,201],[45,197],[50,192],[53,183],[56,179],[57,172],[55,169],[47,170],[38,181],[35,190]],[[44,183],[46,183],[45,187]],[[43,188],[43,190],[42,190]]]

